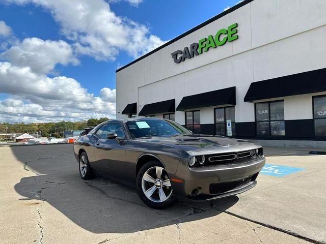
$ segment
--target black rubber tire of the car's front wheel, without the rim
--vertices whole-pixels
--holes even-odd
[[[152,208],[157,208],[157,209],[167,208],[167,207],[171,206],[175,202],[175,195],[173,193],[172,187],[171,187],[172,193],[169,196],[167,196],[167,199],[165,201],[162,201],[162,202],[152,201],[144,193],[143,185],[142,185],[143,176],[144,176],[144,174],[145,174],[146,171],[150,170],[153,167],[161,167],[161,168],[163,168],[165,170],[164,166],[162,166],[162,164],[160,162],[158,162],[158,161],[149,161],[146,164],[144,164],[141,167],[141,169],[139,170],[139,172],[137,174],[137,179],[136,179],[136,186],[137,186],[138,195],[140,196],[140,198],[142,199],[142,201],[146,205],[148,205],[148,206],[150,206]],[[165,171],[165,175],[164,176],[166,177],[165,180],[168,180],[169,179],[169,176],[168,176],[168,174],[167,174],[166,171]],[[155,184],[154,184],[154,187],[155,187]],[[162,186],[161,188],[162,188],[162,190],[164,188],[165,190],[168,189],[170,191],[170,187],[164,187],[164,186]],[[154,194],[157,194],[158,195],[158,191],[159,191],[158,189],[155,190]]]

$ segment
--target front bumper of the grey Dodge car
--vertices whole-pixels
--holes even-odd
[[[194,168],[188,167],[187,162],[182,161],[179,163],[177,172],[171,175],[171,184],[176,195],[188,200],[213,200],[253,188],[264,165],[264,157],[240,164]],[[173,179],[178,179],[179,182],[175,182]]]

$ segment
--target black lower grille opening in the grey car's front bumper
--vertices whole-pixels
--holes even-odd
[[[235,180],[231,182],[213,183],[209,185],[209,193],[212,195],[226,193],[228,191],[240,188],[256,180],[258,173],[247,178]]]

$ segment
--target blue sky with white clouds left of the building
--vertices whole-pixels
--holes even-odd
[[[0,0],[0,123],[115,118],[116,69],[239,2]]]

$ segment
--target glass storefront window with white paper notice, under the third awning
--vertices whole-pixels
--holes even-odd
[[[228,125],[229,120],[231,120],[231,124]],[[215,108],[215,134],[235,136],[234,107]]]

